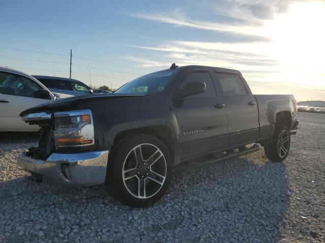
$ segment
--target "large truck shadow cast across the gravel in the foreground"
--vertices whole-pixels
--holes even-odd
[[[72,230],[78,225],[80,230],[64,239],[70,242],[79,235],[94,240],[98,230],[108,228],[107,232],[113,230],[114,242],[129,242],[134,237],[161,242],[169,236],[160,224],[178,242],[277,242],[289,204],[285,165],[256,164],[250,158],[223,161],[185,174],[175,169],[169,193],[147,209],[116,203],[103,185],[65,188],[29,177],[0,183],[0,196],[0,231],[13,225],[6,236],[12,241],[35,239],[38,231],[33,225],[41,224],[47,226],[42,237],[51,240],[58,238],[63,228]],[[18,235],[14,225],[31,231]]]

